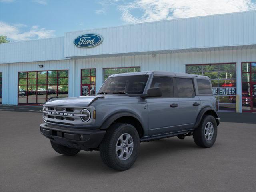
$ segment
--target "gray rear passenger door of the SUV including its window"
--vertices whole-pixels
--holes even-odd
[[[201,110],[201,103],[196,96],[193,78],[176,78],[180,115],[180,130],[194,127]]]

